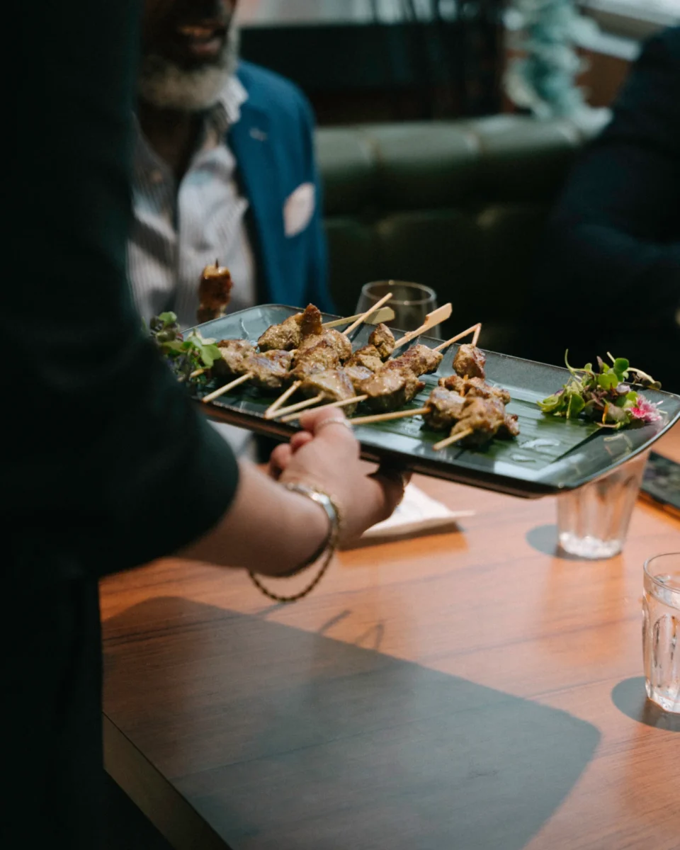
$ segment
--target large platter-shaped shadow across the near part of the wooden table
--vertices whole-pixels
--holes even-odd
[[[133,784],[175,847],[199,813],[202,847],[519,850],[599,740],[562,711],[180,598],[105,623],[105,713],[122,732],[107,767],[125,785],[139,748]]]

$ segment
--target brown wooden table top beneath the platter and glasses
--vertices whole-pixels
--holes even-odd
[[[624,553],[581,561],[554,499],[417,484],[475,515],[342,553],[294,605],[176,560],[104,581],[111,775],[182,850],[678,850],[640,599],[680,520],[638,502]]]

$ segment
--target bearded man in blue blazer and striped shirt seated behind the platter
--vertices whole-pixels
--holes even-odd
[[[303,94],[238,61],[238,0],[145,0],[128,274],[142,318],[197,324],[202,269],[255,303],[331,309]]]

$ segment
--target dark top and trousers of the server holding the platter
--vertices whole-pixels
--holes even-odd
[[[127,286],[139,10],[14,7],[27,59],[6,92],[0,287],[8,850],[97,847],[97,581],[200,536],[238,482]]]

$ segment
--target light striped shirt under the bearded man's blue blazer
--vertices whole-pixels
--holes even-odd
[[[244,220],[248,201],[224,139],[247,96],[230,77],[207,112],[201,144],[179,183],[138,124],[127,264],[134,301],[146,321],[173,310],[180,327],[195,325],[201,272],[216,259],[234,280],[229,312],[255,303],[255,261]]]

